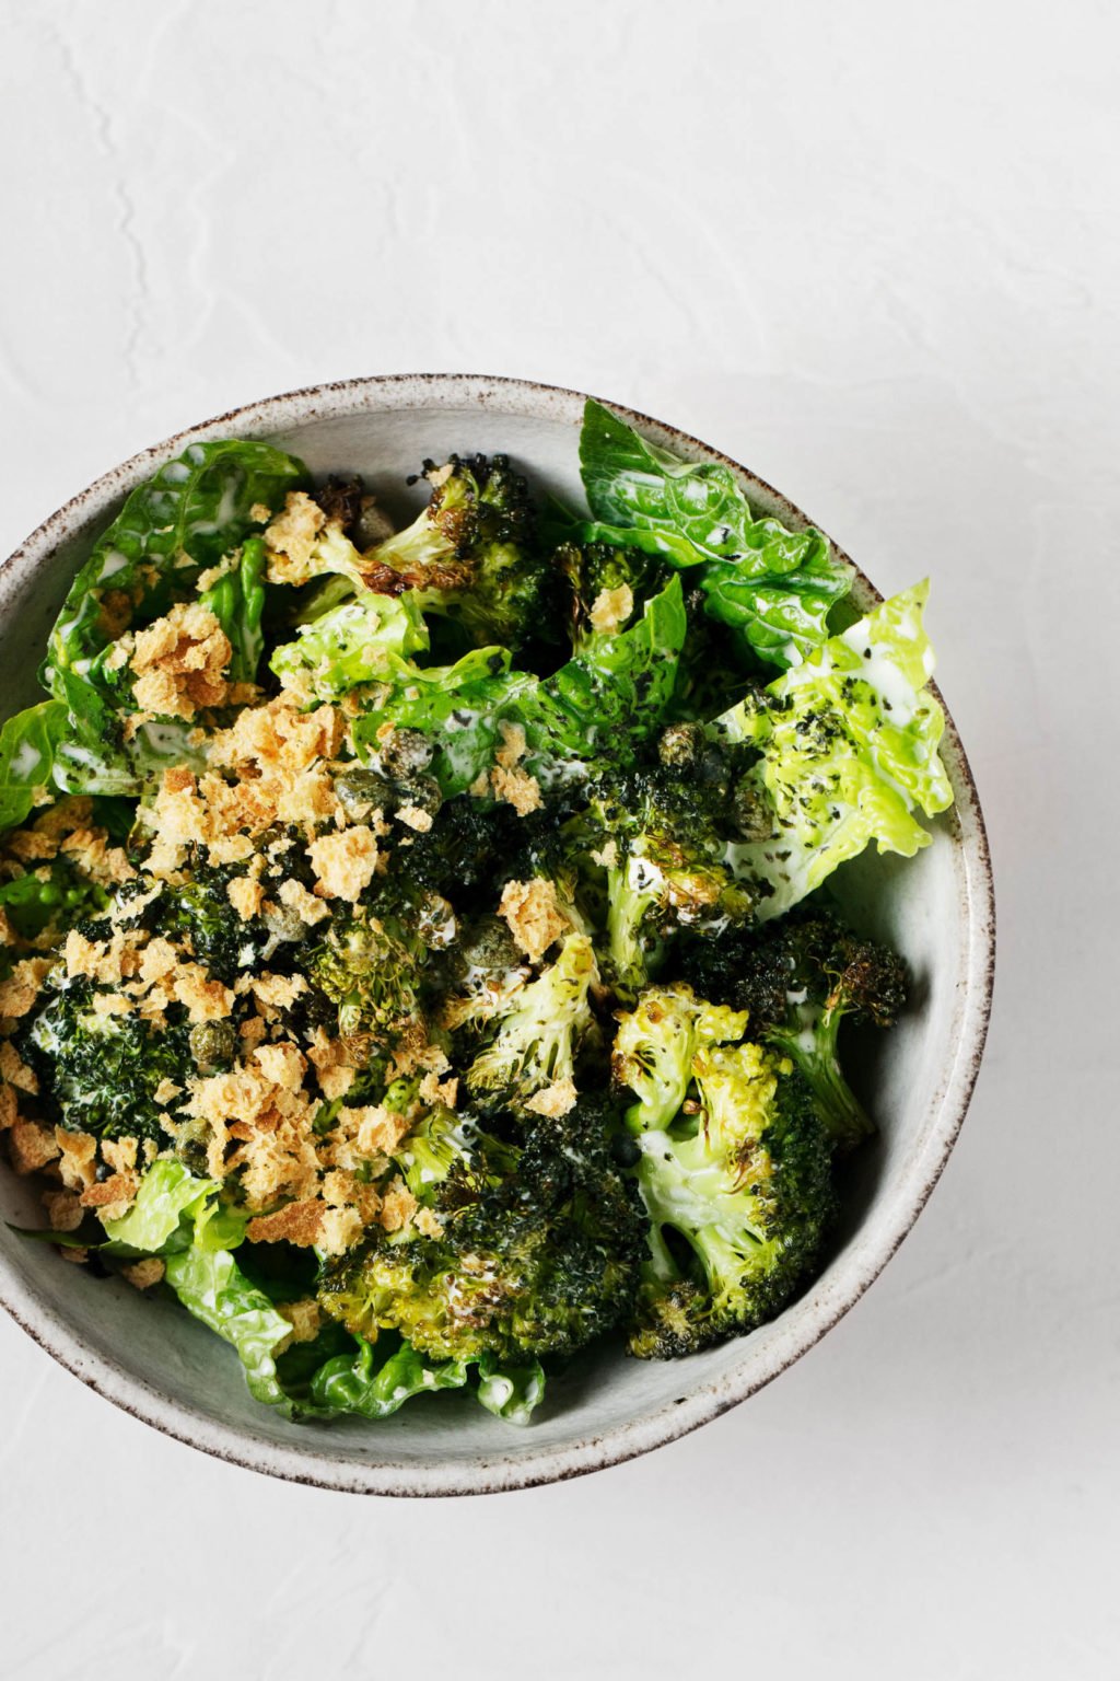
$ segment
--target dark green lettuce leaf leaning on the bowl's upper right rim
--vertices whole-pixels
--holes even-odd
[[[796,664],[826,640],[850,568],[819,531],[756,519],[730,467],[680,461],[596,402],[584,408],[579,467],[594,514],[583,541],[702,568],[705,612],[771,664]]]

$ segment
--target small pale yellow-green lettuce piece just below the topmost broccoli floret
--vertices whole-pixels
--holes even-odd
[[[401,661],[427,649],[428,629],[413,592],[364,592],[302,625],[294,642],[275,649],[269,666],[285,688],[338,701],[364,682],[400,674]]]

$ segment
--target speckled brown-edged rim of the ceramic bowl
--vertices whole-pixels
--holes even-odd
[[[747,467],[712,449],[700,439],[650,415],[616,403],[610,407],[626,415],[648,437],[677,447],[692,457],[720,461],[744,482],[747,491],[762,491],[781,516],[803,526],[808,516],[786,496],[759,479]],[[12,573],[32,573],[69,538],[79,524],[109,514],[114,504],[161,462],[176,456],[195,440],[222,435],[272,435],[290,432],[309,420],[334,419],[363,412],[391,412],[405,408],[495,408],[526,417],[547,417],[573,427],[586,393],[532,380],[500,378],[470,373],[395,373],[356,380],[339,380],[312,385],[262,402],[245,403],[228,414],[217,415],[200,425],[176,432],[175,437],[144,449],[129,461],[102,474],[79,496],[50,514],[7,561],[0,565],[0,578]],[[838,545],[836,545],[838,548]],[[838,553],[843,553],[838,548]],[[846,558],[846,556],[845,556]],[[856,593],[861,603],[882,600],[870,580],[856,570]],[[942,703],[944,704],[944,703]],[[799,1360],[826,1335],[860,1299],[897,1252],[925,1207],[949,1153],[960,1131],[972,1088],[984,1052],[984,1039],[991,1015],[992,977],[996,958],[996,906],[992,889],[991,854],[984,829],[981,802],[972,772],[960,745],[955,725],[945,711],[942,756],[955,793],[955,846],[964,859],[964,894],[960,918],[966,926],[966,1002],[960,1034],[952,1049],[949,1067],[930,1099],[925,1141],[919,1148],[893,1199],[893,1214],[877,1234],[875,1242],[853,1241],[835,1262],[830,1289],[813,1301],[813,1293],[799,1304],[801,1311],[786,1316],[788,1335],[772,1336],[759,1355],[744,1343],[742,1367],[722,1377],[688,1387],[685,1394],[667,1405],[615,1425],[603,1434],[586,1436],[561,1447],[532,1451],[532,1436],[519,1437],[517,1452],[509,1456],[442,1457],[430,1464],[405,1461],[368,1462],[349,1457],[346,1442],[336,1439],[332,1447],[324,1437],[309,1436],[307,1446],[279,1446],[249,1429],[232,1429],[200,1409],[171,1399],[160,1389],[124,1375],[119,1367],[92,1353],[74,1333],[64,1316],[54,1311],[35,1288],[15,1276],[0,1259],[0,1306],[82,1383],[104,1395],[114,1405],[143,1419],[176,1441],[200,1447],[218,1459],[245,1466],[270,1476],[317,1488],[364,1494],[475,1494],[499,1489],[532,1488],[556,1483],[589,1471],[633,1459],[688,1431],[699,1429],[709,1419],[719,1417],[741,1400],[754,1395],[781,1372]],[[682,1365],[682,1378],[687,1363]],[[322,1442],[322,1446],[317,1446]],[[510,1444],[512,1447],[512,1444]]]

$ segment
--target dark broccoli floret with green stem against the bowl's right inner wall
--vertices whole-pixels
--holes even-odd
[[[722,946],[692,946],[682,973],[749,1010],[752,1035],[796,1062],[843,1150],[875,1131],[840,1067],[840,1024],[895,1022],[907,1002],[907,967],[895,951],[814,911]]]

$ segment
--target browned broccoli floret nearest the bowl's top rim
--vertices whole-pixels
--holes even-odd
[[[554,573],[534,546],[526,479],[505,456],[427,461],[423,476],[432,501],[363,556],[366,587],[415,590],[423,612],[457,620],[477,647],[554,639]]]

